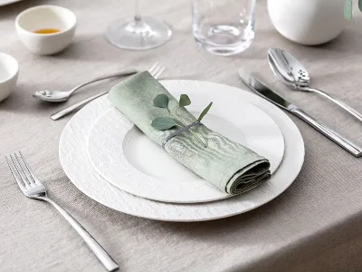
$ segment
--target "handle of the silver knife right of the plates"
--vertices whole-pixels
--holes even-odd
[[[359,158],[362,156],[362,149],[359,148],[352,141],[348,141],[343,136],[339,135],[336,131],[329,129],[328,126],[324,125],[314,117],[310,116],[309,113],[304,112],[299,108],[292,109],[291,112],[298,116],[301,120],[306,121],[310,126],[315,128],[317,131],[321,132],[325,136],[327,136],[330,140],[336,142],[339,146],[344,148],[346,151]]]

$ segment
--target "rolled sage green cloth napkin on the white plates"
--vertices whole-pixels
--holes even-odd
[[[153,100],[160,93],[167,94],[168,108],[175,112],[178,107],[176,99],[148,72],[133,75],[114,86],[108,98],[119,112],[134,122],[151,140],[162,145],[167,136],[177,131],[177,128],[157,131],[151,126],[155,118],[169,116],[166,109],[153,105]],[[187,90],[185,93],[187,94]],[[192,96],[190,98],[192,100]],[[208,101],[205,101],[205,105],[207,103]],[[185,108],[179,109],[177,114],[183,123],[196,121],[195,116]],[[240,194],[271,177],[270,162],[254,151],[230,141],[204,125],[197,125],[191,130],[204,141],[206,147],[197,141],[190,131],[183,131],[167,141],[164,148],[171,157],[218,189],[228,194]]]

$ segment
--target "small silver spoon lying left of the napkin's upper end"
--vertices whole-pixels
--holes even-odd
[[[112,78],[112,77],[120,77],[120,76],[127,76],[131,74],[138,73],[138,71],[134,69],[130,70],[124,70],[119,73],[112,73],[109,75],[100,76],[98,78],[95,78],[89,82],[81,83],[78,86],[71,89],[71,91],[37,91],[33,93],[33,97],[38,98],[40,100],[46,101],[46,102],[65,102],[69,99],[71,94],[77,90],[79,90],[81,87],[88,85],[90,83],[95,83],[104,79]]]

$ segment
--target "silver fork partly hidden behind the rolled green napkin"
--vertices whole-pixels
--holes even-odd
[[[154,78],[158,78],[163,72],[165,71],[165,66],[155,63],[151,68],[149,68],[148,73],[150,73]],[[62,109],[60,112],[55,112],[51,115],[51,118],[53,121],[61,119],[65,115],[68,115],[69,113],[81,109],[84,105],[88,104],[89,102],[95,100],[96,98],[107,94],[109,91],[106,92],[100,92],[93,96],[90,96],[89,98],[86,98],[82,100],[81,102],[76,102],[75,104],[72,104],[71,106]]]

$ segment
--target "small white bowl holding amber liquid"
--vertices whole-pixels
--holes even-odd
[[[38,5],[24,10],[15,19],[16,32],[23,44],[33,53],[54,54],[64,50],[75,33],[77,19],[62,6]],[[35,34],[34,31],[53,28],[60,32]]]

